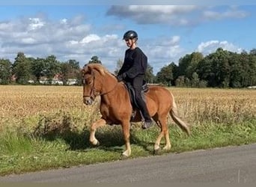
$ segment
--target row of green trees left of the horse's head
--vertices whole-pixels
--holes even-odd
[[[9,85],[13,82],[27,85],[28,81],[38,84],[41,79],[51,84],[56,76],[66,85],[68,79],[80,79],[79,72],[78,61],[61,62],[55,55],[49,55],[46,58],[27,58],[23,52],[18,52],[13,64],[9,59],[0,59],[1,85]]]

